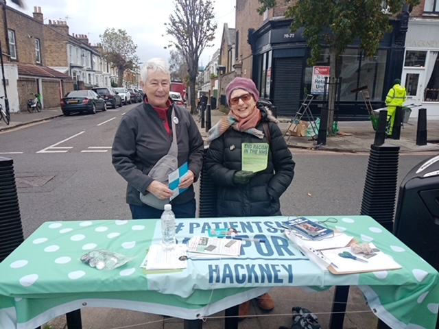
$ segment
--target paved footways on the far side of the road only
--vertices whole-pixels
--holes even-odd
[[[121,109],[123,110],[123,108]],[[21,112],[11,113],[10,125],[5,125],[0,121],[0,131],[22,127],[38,121],[45,121],[54,117],[62,116],[61,108],[49,108],[41,112]],[[225,114],[219,110],[211,111],[211,126],[215,125],[217,121]],[[195,118],[196,119],[196,118]],[[280,117],[281,122],[278,126],[281,128],[283,134],[287,130],[294,127],[291,125],[291,118]],[[201,127],[198,123],[200,133],[204,140],[207,138],[206,125]],[[334,152],[349,152],[349,153],[363,153],[370,151],[370,145],[374,143],[375,131],[372,128],[370,121],[340,121],[338,122],[339,132],[335,136],[328,136],[325,145],[318,145],[316,141],[307,136],[289,136],[285,135],[287,145],[290,148],[309,149],[316,151],[334,151]],[[385,143],[396,145],[400,147],[400,153],[416,153],[416,152],[438,152],[439,153],[439,120],[427,121],[427,145],[416,145],[417,119],[409,119],[401,128],[401,136],[399,140],[388,138]]]

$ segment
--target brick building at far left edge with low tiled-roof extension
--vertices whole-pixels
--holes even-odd
[[[73,89],[69,75],[47,66],[43,14],[36,11],[34,17],[29,17],[6,7],[0,14],[0,42],[9,45],[3,47],[3,62],[8,74],[6,84],[11,112],[26,110],[27,99],[33,97],[31,93],[43,96],[43,108],[59,106],[62,90]]]

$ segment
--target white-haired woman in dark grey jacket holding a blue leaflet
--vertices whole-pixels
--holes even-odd
[[[163,60],[153,58],[146,62],[141,69],[143,103],[123,115],[113,141],[112,164],[128,183],[126,202],[133,219],[160,218],[163,212],[163,208],[143,204],[139,193],[152,193],[158,199],[173,195],[167,184],[148,175],[169,151],[173,134],[177,137],[178,167],[187,162],[189,171],[179,185],[188,189],[172,199],[172,210],[177,218],[195,217],[193,182],[200,175],[204,143],[189,111],[169,98],[170,84],[169,70]]]

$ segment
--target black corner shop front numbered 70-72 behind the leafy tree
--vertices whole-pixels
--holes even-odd
[[[342,77],[340,102],[335,108],[339,121],[367,120],[368,110],[364,95],[352,92],[367,86],[372,108],[382,108],[392,82],[401,78],[404,60],[405,34],[408,13],[401,19],[390,21],[393,32],[385,34],[377,55],[367,58],[353,42],[338,59],[337,77]],[[302,36],[302,29],[291,32],[291,20],[267,21],[256,31],[249,30],[252,47],[252,78],[261,97],[270,99],[277,108],[278,117],[292,117],[311,94],[312,67],[307,67],[309,47]],[[316,66],[329,66],[329,47],[322,42]],[[319,117],[323,95],[314,95],[310,108]]]

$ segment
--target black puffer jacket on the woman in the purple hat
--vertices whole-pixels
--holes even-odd
[[[259,106],[262,118],[257,129],[264,131],[262,121],[268,122],[271,142],[268,167],[259,171],[248,184],[233,184],[233,174],[241,170],[242,143],[268,143],[266,136],[259,139],[246,132],[229,128],[211,142],[204,166],[217,184],[218,217],[250,217],[281,215],[279,198],[291,184],[294,160],[277,120],[271,112]],[[264,132],[265,135],[265,132]]]

